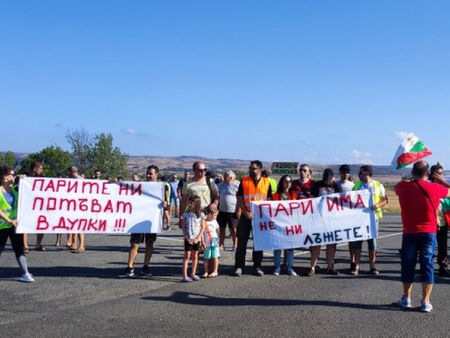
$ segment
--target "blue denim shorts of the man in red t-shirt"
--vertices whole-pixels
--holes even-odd
[[[420,232],[418,234],[403,234],[402,240],[402,274],[403,283],[414,281],[414,270],[419,253],[420,281],[434,283],[433,254],[436,250],[436,234]]]

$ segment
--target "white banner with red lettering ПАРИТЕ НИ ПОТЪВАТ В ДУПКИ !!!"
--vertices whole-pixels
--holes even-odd
[[[159,233],[164,183],[20,180],[19,233]]]

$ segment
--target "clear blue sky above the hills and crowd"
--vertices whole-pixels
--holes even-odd
[[[2,1],[0,150],[450,167],[447,1]]]

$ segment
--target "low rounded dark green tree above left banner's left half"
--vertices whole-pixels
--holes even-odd
[[[57,177],[63,175],[66,169],[71,165],[71,155],[68,151],[62,150],[57,146],[50,146],[42,149],[38,153],[29,154],[22,163],[21,173],[27,174],[31,163],[39,161],[44,168],[44,175],[48,177]]]

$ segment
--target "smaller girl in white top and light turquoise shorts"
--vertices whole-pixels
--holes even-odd
[[[206,277],[216,277],[219,273],[219,224],[216,221],[217,212],[212,211],[209,207],[206,209],[206,227],[203,231],[202,249],[203,249],[203,265]]]

